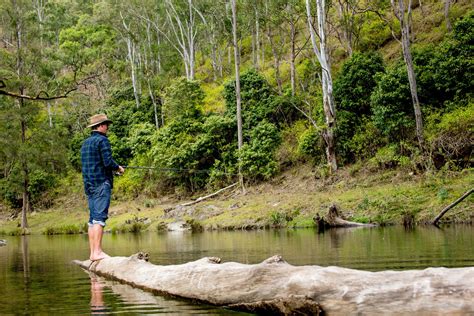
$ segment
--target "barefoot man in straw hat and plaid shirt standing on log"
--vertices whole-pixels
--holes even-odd
[[[102,235],[108,218],[113,172],[124,172],[124,168],[112,159],[112,150],[107,139],[111,123],[105,114],[92,116],[87,126],[92,129],[91,136],[84,141],[81,148],[82,178],[90,212],[88,233],[91,261],[109,257],[102,250]]]

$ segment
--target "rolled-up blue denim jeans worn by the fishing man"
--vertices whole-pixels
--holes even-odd
[[[89,201],[89,226],[99,224],[105,226],[109,215],[110,197],[112,188],[109,181],[105,181],[98,187],[89,189],[87,199]]]

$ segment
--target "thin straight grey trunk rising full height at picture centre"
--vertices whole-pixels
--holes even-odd
[[[244,177],[242,175],[240,154],[243,146],[242,136],[242,105],[240,96],[240,51],[237,40],[237,5],[236,0],[232,0],[232,37],[234,42],[234,63],[235,63],[235,99],[237,101],[237,141],[239,149],[239,182],[242,191],[245,191]]]

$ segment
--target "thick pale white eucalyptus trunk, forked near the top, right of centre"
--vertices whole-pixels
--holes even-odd
[[[337,170],[335,136],[334,128],[336,125],[336,104],[333,95],[333,83],[331,74],[331,64],[329,59],[329,51],[327,46],[327,16],[326,1],[316,0],[317,19],[314,20],[311,12],[310,0],[306,0],[306,14],[308,20],[308,29],[311,36],[311,44],[314,54],[321,65],[321,86],[323,93],[323,109],[325,115],[326,126],[322,136],[326,143],[326,158],[332,172]],[[315,26],[316,24],[316,26]],[[319,39],[319,45],[317,39]]]

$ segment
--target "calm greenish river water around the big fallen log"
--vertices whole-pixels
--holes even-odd
[[[88,257],[86,235],[1,237],[0,314],[239,314],[152,295],[89,275],[71,263]],[[206,256],[258,263],[281,254],[293,265],[337,265],[370,271],[474,266],[474,226],[403,227],[104,235],[113,256],[137,251],[154,264]]]

